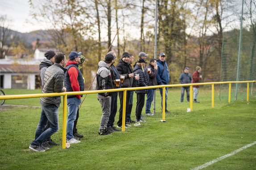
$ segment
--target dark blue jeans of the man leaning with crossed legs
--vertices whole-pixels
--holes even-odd
[[[45,130],[46,123],[49,121],[50,128]],[[41,145],[42,142],[59,130],[59,111],[54,104],[42,106],[41,118],[37,126],[35,140],[31,142],[32,145]]]

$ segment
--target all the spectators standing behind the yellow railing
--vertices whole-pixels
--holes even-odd
[[[69,91],[84,91],[84,78],[80,68],[85,62],[85,58],[81,55],[82,52],[72,51],[69,54],[69,60],[66,63],[66,56],[64,53],[56,53],[53,50],[45,52],[45,59],[40,64],[40,80],[42,85],[42,93],[60,93]],[[99,69],[97,71],[97,90],[107,90],[115,88],[129,88],[129,87],[145,87],[155,85],[167,85],[169,83],[169,69],[165,61],[165,53],[160,53],[159,58],[150,59],[147,67],[145,67],[145,60],[148,54],[140,52],[139,59],[132,69],[132,62],[134,56],[128,52],[124,52],[122,58],[116,67],[113,65],[116,62],[116,53],[110,51],[102,61],[99,61]],[[64,67],[66,65],[66,68]],[[137,69],[141,71],[137,71]],[[201,67],[196,68],[192,76],[192,83],[198,83],[202,78],[200,72]],[[140,73],[140,74],[135,74]],[[122,80],[120,82],[120,79]],[[186,67],[184,73],[180,77],[182,84],[191,83],[191,75],[189,68]],[[193,86],[194,103],[196,101],[199,86]],[[135,91],[137,94],[136,103],[136,121],[131,119],[132,99],[134,91],[127,91],[126,94],[126,114],[125,114],[125,128],[131,127],[130,123],[145,122],[141,118],[142,108],[144,107],[145,94],[147,94],[145,115],[153,116],[151,113],[151,103],[153,101],[155,89],[147,89],[144,91]],[[163,103],[163,88],[159,88],[161,94],[161,104]],[[189,101],[189,88],[182,87],[182,99],[184,92],[187,92],[187,100]],[[98,93],[97,97],[102,108],[102,117],[100,120],[99,135],[111,134],[119,131],[114,127],[115,116],[117,112],[117,96],[120,99],[119,120],[117,127],[122,128],[123,122],[123,99],[124,91],[119,92],[103,92]],[[83,135],[77,133],[76,124],[79,116],[79,105],[81,104],[81,97],[83,95],[68,95],[68,118],[66,123],[66,142],[78,143]],[[165,88],[165,103],[168,99],[168,87]],[[59,145],[50,138],[52,134],[59,130],[58,123],[58,107],[61,103],[60,96],[41,97],[40,103],[42,106],[41,118],[37,126],[35,140],[31,142],[29,148],[34,151],[44,152],[53,145]],[[170,113],[165,104],[165,113]]]

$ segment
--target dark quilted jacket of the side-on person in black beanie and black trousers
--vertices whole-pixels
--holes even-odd
[[[133,71],[135,74],[140,75],[140,79],[136,81],[136,87],[148,86],[148,81],[147,81],[146,75],[145,75],[144,71],[141,69],[141,67],[139,65],[136,65],[133,68]],[[136,90],[135,93],[148,93],[148,89]]]

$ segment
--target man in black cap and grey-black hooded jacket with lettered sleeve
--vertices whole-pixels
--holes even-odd
[[[97,90],[113,89],[113,81],[111,78],[111,64],[114,62],[114,56],[107,54],[103,61],[99,61],[99,69],[97,71]],[[111,92],[97,94],[102,116],[99,125],[99,136],[111,134],[115,130],[111,126],[107,127],[107,122],[111,111]]]

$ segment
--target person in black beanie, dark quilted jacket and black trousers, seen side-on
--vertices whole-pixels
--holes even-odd
[[[135,74],[139,74],[140,79],[136,81],[136,87],[147,87],[148,81],[144,72],[145,59],[139,59],[136,66],[133,68]],[[148,74],[148,73],[147,73]],[[137,103],[136,103],[136,122],[146,122],[141,119],[141,112],[145,104],[145,94],[148,93],[148,89],[136,90]]]

